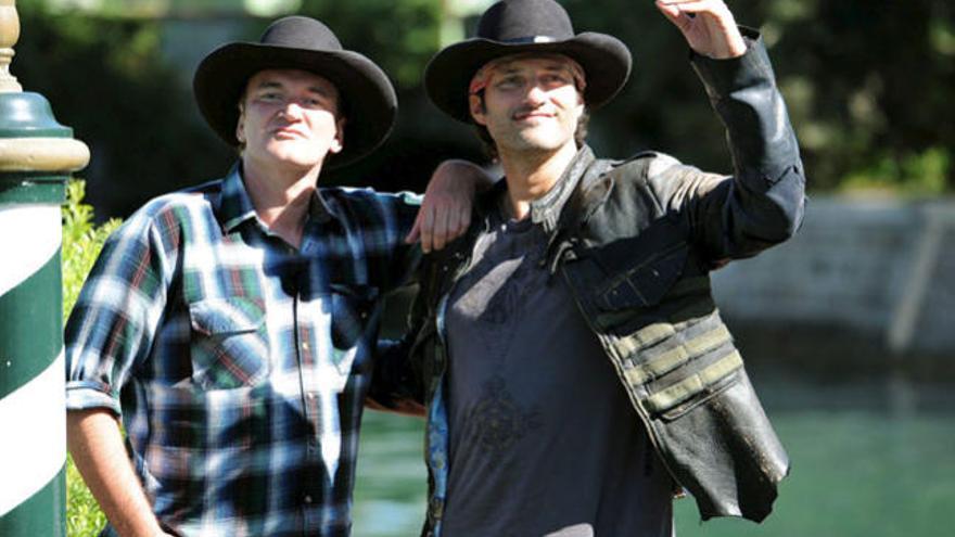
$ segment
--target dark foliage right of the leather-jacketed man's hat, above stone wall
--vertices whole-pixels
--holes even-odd
[[[638,145],[728,169],[718,143],[722,127],[683,61],[686,47],[653,3],[601,0],[601,9],[585,0],[563,3],[578,30],[611,33],[634,52],[627,90],[610,112],[595,117],[603,122],[600,132],[613,152],[625,153],[624,145],[636,139]],[[950,1],[728,3],[740,24],[763,33],[812,188],[858,186],[873,172],[874,182],[887,188],[921,193],[955,188],[955,7]]]

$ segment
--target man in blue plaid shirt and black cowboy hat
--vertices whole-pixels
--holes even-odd
[[[316,181],[386,137],[394,90],[305,17],[212,52],[194,89],[240,162],[106,243],[66,327],[69,449],[104,535],[347,535],[382,297],[420,257],[420,199]],[[435,247],[467,226],[473,183],[457,184],[443,199],[462,202],[422,217]]]

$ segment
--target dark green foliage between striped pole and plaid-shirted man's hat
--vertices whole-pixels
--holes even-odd
[[[17,7],[13,74],[89,145],[84,175],[98,215],[128,215],[158,192],[222,175],[231,152],[201,124],[191,90],[163,59],[158,21]]]

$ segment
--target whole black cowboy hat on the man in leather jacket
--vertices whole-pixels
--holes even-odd
[[[631,74],[631,52],[607,34],[574,34],[566,11],[553,0],[501,0],[484,12],[478,36],[448,46],[424,69],[428,97],[455,119],[471,123],[468,87],[487,62],[524,52],[558,53],[584,68],[584,101],[596,110],[623,88]]]

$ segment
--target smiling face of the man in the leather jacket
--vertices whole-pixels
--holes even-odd
[[[492,69],[483,102],[471,95],[470,108],[501,154],[556,152],[574,143],[584,100],[564,60],[520,56]]]

